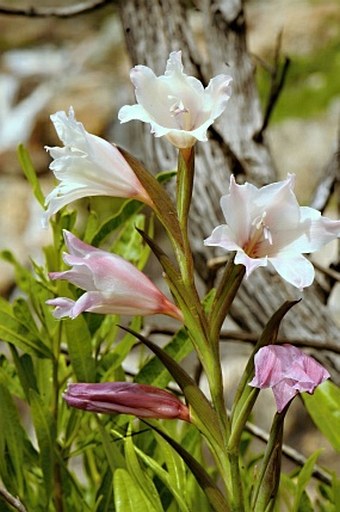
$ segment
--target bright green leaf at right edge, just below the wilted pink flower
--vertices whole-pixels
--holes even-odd
[[[313,422],[336,451],[340,451],[340,388],[327,380],[302,399]]]

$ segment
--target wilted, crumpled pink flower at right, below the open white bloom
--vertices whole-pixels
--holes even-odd
[[[293,345],[267,345],[255,354],[255,377],[250,386],[272,388],[278,412],[298,393],[312,394],[330,377],[315,359]]]

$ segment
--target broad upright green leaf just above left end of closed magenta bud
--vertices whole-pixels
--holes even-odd
[[[68,351],[78,382],[95,382],[96,368],[91,336],[82,316],[63,320]]]

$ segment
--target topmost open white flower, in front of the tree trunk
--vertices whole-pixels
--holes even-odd
[[[204,89],[197,78],[183,73],[180,51],[170,53],[164,75],[157,77],[152,69],[135,66],[130,77],[138,104],[120,109],[121,123],[133,119],[150,123],[156,137],[166,136],[178,148],[206,141],[207,129],[231,95],[228,75],[215,76]]]

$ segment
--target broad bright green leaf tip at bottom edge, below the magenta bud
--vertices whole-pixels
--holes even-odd
[[[116,512],[156,512],[143,490],[125,469],[117,469],[113,478]]]

